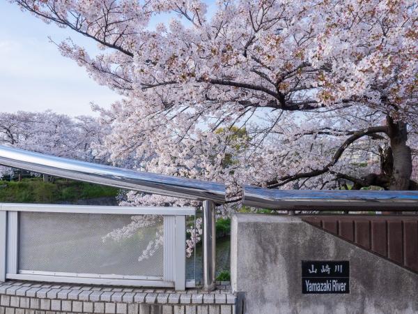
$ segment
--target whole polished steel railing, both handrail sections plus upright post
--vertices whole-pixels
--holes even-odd
[[[203,201],[203,287],[206,290],[215,288],[215,206],[225,202],[224,184],[137,172],[2,146],[0,165],[146,193]],[[418,191],[270,190],[245,186],[243,204],[285,211],[418,211]],[[0,240],[1,237],[0,234]]]

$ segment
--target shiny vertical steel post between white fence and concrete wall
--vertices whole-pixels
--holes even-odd
[[[203,202],[203,290],[216,288],[216,209],[215,202]]]

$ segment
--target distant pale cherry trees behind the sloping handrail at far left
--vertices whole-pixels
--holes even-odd
[[[95,145],[109,133],[97,118],[45,112],[0,112],[0,144],[65,158],[102,162]],[[3,167],[3,173],[9,173]]]

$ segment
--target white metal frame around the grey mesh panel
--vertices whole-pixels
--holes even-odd
[[[19,212],[48,212],[66,214],[124,214],[160,215],[164,224],[164,276],[123,276],[75,274],[49,271],[20,271]],[[98,285],[134,285],[143,287],[175,287],[185,290],[194,287],[185,276],[186,216],[196,214],[194,207],[118,207],[55,204],[0,204],[0,281],[6,279],[84,283]],[[183,248],[183,249],[182,249]]]

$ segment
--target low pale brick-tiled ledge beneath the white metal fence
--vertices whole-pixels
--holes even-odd
[[[235,314],[229,283],[218,287],[205,293],[7,281],[0,284],[0,314]]]

